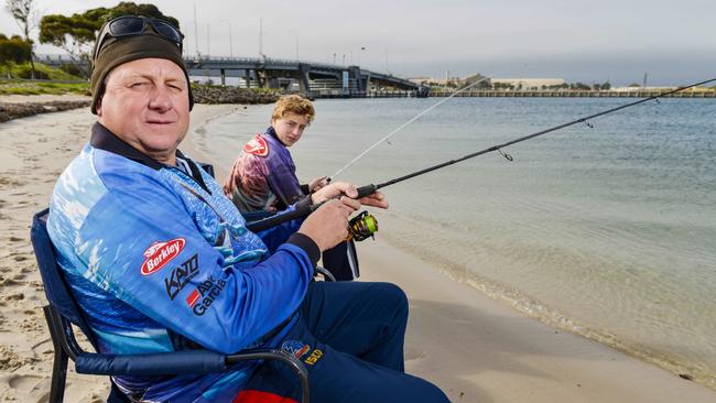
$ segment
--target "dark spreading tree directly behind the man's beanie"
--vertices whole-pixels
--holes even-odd
[[[100,7],[70,17],[62,14],[45,15],[40,21],[40,42],[50,43],[64,50],[69,54],[75,65],[79,67],[82,61],[90,62],[89,52],[91,52],[97,31],[105,22],[121,15],[152,17],[178,28],[178,20],[164,15],[156,6],[135,4],[126,1],[111,9]],[[89,75],[89,72],[84,69],[83,73],[86,76]]]

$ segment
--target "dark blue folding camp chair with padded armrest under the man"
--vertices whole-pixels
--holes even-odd
[[[47,235],[50,210],[37,213],[32,220],[32,246],[45,286],[48,305],[44,306],[47,327],[55,349],[50,402],[62,403],[67,374],[67,359],[75,361],[78,373],[96,375],[178,375],[226,371],[229,366],[247,360],[279,360],[285,362],[301,381],[301,401],[308,402],[308,373],[303,363],[291,353],[276,349],[245,350],[237,355],[221,355],[208,350],[184,350],[152,355],[104,355],[86,352],[75,339],[73,325],[87,336],[97,349],[94,334],[85,322],[57,265],[54,247]],[[108,402],[129,401],[112,382]]]

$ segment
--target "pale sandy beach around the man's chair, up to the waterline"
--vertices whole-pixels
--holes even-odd
[[[202,122],[235,108],[197,105],[192,130],[204,130]],[[80,109],[0,123],[2,401],[47,401],[53,349],[30,221],[46,207],[55,178],[87,141],[94,121]],[[181,149],[206,161],[191,137]],[[211,163],[223,178],[231,161]],[[362,281],[400,284],[411,301],[406,370],[435,382],[455,402],[716,402],[716,392],[705,386],[555,330],[453,282],[441,268],[380,236],[360,243],[359,254]],[[65,400],[104,401],[107,380],[78,375],[69,367]]]

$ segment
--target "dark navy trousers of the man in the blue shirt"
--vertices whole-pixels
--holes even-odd
[[[448,401],[434,384],[403,372],[408,299],[398,286],[315,282],[300,311],[282,348],[306,366],[311,402]],[[291,402],[299,389],[285,364],[267,361],[237,402]]]

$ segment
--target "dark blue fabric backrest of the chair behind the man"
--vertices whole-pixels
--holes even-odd
[[[48,208],[35,214],[32,218],[32,229],[30,231],[32,248],[37,259],[37,269],[40,269],[42,283],[45,287],[45,296],[50,305],[57,309],[62,316],[69,319],[75,326],[79,327],[93,346],[97,347],[94,334],[83,317],[75,298],[72,296],[62,269],[57,264],[55,248],[47,233],[48,215]]]

